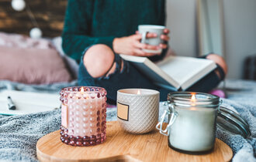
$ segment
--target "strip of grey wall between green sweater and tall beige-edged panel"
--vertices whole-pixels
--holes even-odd
[[[171,49],[178,56],[197,56],[196,0],[166,0]]]

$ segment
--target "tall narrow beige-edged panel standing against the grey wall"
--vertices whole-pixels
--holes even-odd
[[[198,0],[199,52],[224,56],[223,0]]]

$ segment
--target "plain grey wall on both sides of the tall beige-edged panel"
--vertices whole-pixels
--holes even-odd
[[[179,56],[197,56],[196,0],[166,0],[170,46]],[[256,0],[223,0],[228,78],[242,77],[246,56],[256,53]]]

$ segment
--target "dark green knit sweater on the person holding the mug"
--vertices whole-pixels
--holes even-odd
[[[138,25],[164,23],[164,0],[68,0],[62,46],[79,62],[88,46],[112,48],[114,38],[134,34]]]

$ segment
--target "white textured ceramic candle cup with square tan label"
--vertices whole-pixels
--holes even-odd
[[[117,120],[130,133],[148,133],[158,122],[159,92],[152,89],[119,89]]]

